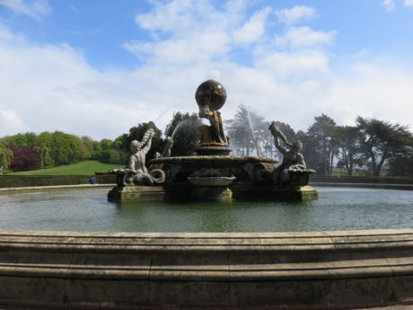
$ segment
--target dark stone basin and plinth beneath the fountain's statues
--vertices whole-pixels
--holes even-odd
[[[275,185],[277,160],[255,156],[180,156],[156,158],[150,171],[163,170],[162,186],[117,186],[112,201],[141,200],[310,200],[317,190],[306,184]],[[308,178],[306,179],[308,180]]]

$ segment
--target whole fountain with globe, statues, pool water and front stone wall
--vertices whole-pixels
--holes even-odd
[[[117,202],[102,198],[105,189],[83,192],[84,197],[67,189],[44,198],[41,192],[0,196],[0,202],[7,196],[8,207],[1,209],[2,229],[13,229],[0,231],[0,305],[107,310],[412,305],[411,192],[402,198],[399,192],[383,197],[374,190],[352,191],[348,199],[346,192],[321,190],[323,199],[313,199],[318,193],[308,186],[313,171],[300,154],[302,145],[288,141],[275,123],[269,130],[284,155],[280,165],[229,155],[218,111],[225,97],[214,81],[198,88],[200,115],[210,122],[199,129],[198,155],[169,156],[171,137],[146,168],[152,130],[132,141],[127,168],[112,171],[118,186],[108,198]],[[236,201],[226,203],[232,198]],[[168,199],[195,201],[159,201]],[[198,201],[209,199],[215,202]],[[250,199],[269,202],[242,201]],[[279,199],[296,201],[273,202]],[[26,207],[13,205],[17,200]],[[192,212],[199,209],[212,213]],[[231,225],[234,214],[239,226]],[[41,225],[31,226],[32,221]],[[226,228],[191,226],[205,221]],[[333,225],[324,226],[329,222]],[[55,231],[44,231],[50,228]],[[376,230],[347,230],[371,228]]]

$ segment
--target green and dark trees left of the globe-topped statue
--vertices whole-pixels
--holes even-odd
[[[175,112],[165,128],[166,137],[176,137],[171,155],[190,155],[198,143],[198,115]],[[191,127],[191,128],[189,128]],[[134,139],[141,140],[148,128],[154,128],[152,148],[147,155],[153,158],[161,152],[166,140],[154,122],[144,122],[129,129],[114,140],[78,137],[62,131],[19,133],[0,138],[0,166],[3,172],[21,172],[50,168],[63,164],[75,164],[84,160],[98,160],[108,164],[126,164],[129,145]]]

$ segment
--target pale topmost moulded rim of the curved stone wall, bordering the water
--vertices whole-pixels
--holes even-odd
[[[338,252],[413,249],[413,228],[291,233],[0,230],[0,249],[70,252]],[[413,263],[413,261],[412,261]],[[412,265],[413,267],[413,265]]]

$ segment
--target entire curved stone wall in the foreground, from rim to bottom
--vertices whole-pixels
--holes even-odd
[[[0,231],[0,305],[337,309],[413,302],[413,229]]]

